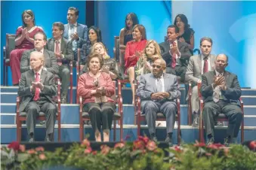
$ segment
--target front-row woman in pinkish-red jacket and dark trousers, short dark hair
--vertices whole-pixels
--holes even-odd
[[[109,131],[116,111],[115,102],[111,99],[115,87],[110,75],[100,71],[103,58],[99,53],[89,54],[87,66],[89,71],[79,77],[77,93],[83,98],[83,110],[89,113],[96,141],[101,141],[101,129],[103,141],[109,141]]]

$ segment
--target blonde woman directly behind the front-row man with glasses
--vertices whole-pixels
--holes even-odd
[[[147,41],[146,47],[143,50],[143,54],[137,61],[135,67],[136,77],[141,74],[147,74],[152,72],[152,66],[154,60],[162,58],[159,44],[154,40]]]

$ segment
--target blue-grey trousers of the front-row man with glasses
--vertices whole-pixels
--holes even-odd
[[[146,114],[147,126],[150,135],[156,134],[156,114],[161,112],[166,117],[166,131],[173,132],[177,113],[176,102],[153,102],[149,101],[143,106],[143,114]]]

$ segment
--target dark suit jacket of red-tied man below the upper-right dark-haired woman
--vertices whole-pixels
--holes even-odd
[[[162,42],[159,44],[159,47],[161,49],[161,56],[163,59],[165,59],[166,65],[171,65],[171,54],[170,51],[170,44],[168,41]],[[187,62],[190,59],[191,53],[190,48],[188,47],[187,43],[177,41],[177,48],[180,51],[180,62],[182,66],[187,66]]]

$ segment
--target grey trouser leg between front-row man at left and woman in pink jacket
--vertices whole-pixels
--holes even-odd
[[[69,90],[70,71],[67,65],[60,65],[59,74],[61,79],[61,96],[66,96]]]

